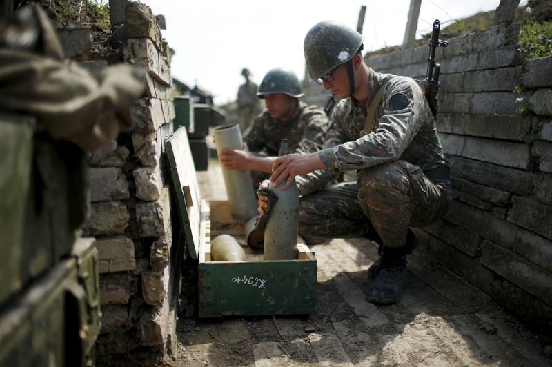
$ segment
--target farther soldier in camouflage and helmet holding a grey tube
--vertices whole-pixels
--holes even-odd
[[[257,96],[266,102],[266,110],[253,119],[244,136],[244,150],[224,149],[219,160],[224,168],[250,170],[255,188],[272,172],[282,138],[290,152],[305,154],[322,149],[329,127],[322,108],[299,101],[301,85],[295,72],[282,68],[264,76]]]

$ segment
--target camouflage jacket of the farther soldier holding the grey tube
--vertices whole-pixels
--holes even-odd
[[[297,110],[286,122],[273,119],[264,110],[253,119],[251,129],[244,136],[249,151],[274,157],[278,155],[283,138],[288,139],[290,153],[312,153],[322,149],[330,123],[322,108],[307,106],[299,101]]]

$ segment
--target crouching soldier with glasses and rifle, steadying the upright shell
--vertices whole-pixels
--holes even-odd
[[[324,149],[276,159],[270,180],[286,188],[302,175],[299,234],[380,242],[380,259],[368,270],[367,299],[393,304],[402,297],[406,255],[415,248],[409,227],[430,224],[446,210],[449,166],[420,86],[368,68],[361,51],[361,35],[341,23],[323,21],[308,32],[304,52],[311,80],[342,100]],[[371,106],[380,88],[382,99]],[[371,108],[375,118],[366,121]],[[328,177],[348,170],[356,170],[356,182],[322,190]],[[266,196],[259,196],[259,212],[267,209]]]

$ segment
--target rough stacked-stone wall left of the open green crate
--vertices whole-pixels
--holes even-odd
[[[96,237],[99,250],[99,361],[149,365],[171,353],[176,342],[183,250],[177,241],[173,246],[163,155],[175,117],[170,50],[148,6],[128,2],[111,11],[116,8],[123,13],[112,16],[126,20],[126,38],[119,37],[112,52],[79,50],[87,42],[72,30],[63,34],[63,44],[92,71],[125,62],[148,72],[146,96],[132,107],[134,128],[90,155],[92,210],[83,232]]]

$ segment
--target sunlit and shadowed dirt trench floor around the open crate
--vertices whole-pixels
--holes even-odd
[[[198,178],[205,199],[226,199],[216,159]],[[374,243],[334,239],[311,250],[318,268],[314,313],[182,314],[175,357],[165,366],[552,366],[550,339],[444,268],[409,267],[403,299],[376,307],[365,300]]]

